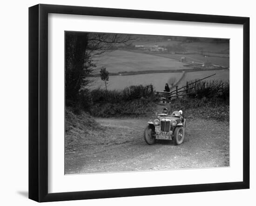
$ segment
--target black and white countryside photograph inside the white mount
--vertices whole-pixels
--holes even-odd
[[[65,31],[66,175],[216,167],[229,39]]]

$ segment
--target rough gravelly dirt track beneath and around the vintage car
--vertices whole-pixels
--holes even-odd
[[[148,119],[96,119],[103,130],[88,131],[76,148],[65,150],[65,173],[145,171],[229,166],[229,125],[187,120],[182,145],[162,140],[148,145]]]

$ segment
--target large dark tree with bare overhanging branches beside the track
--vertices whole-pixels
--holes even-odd
[[[65,97],[66,103],[77,102],[81,90],[96,66],[93,57],[129,44],[130,35],[111,33],[65,33]]]

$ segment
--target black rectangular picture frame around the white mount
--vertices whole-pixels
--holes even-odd
[[[48,13],[243,25],[243,181],[48,193]],[[241,141],[242,142],[242,141]],[[39,4],[29,8],[29,199],[98,199],[249,188],[249,18]]]

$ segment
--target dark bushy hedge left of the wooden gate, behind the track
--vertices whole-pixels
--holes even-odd
[[[89,97],[92,104],[84,102],[84,108],[87,106],[86,110],[93,116],[143,116],[155,108],[152,85],[129,86],[122,91],[97,89]]]

